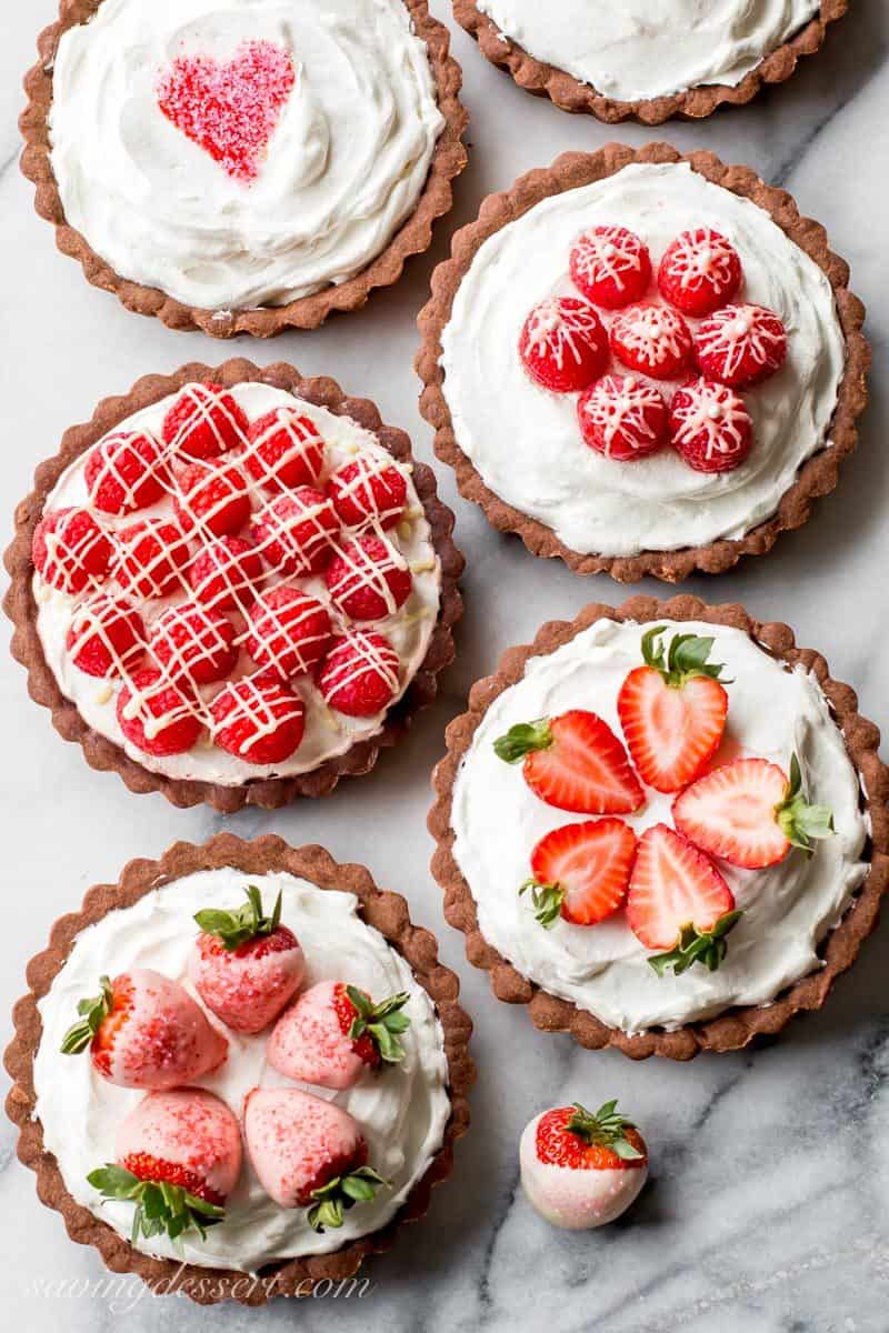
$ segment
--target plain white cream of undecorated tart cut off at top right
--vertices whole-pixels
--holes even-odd
[[[505,36],[605,97],[740,84],[820,0],[478,0]]]

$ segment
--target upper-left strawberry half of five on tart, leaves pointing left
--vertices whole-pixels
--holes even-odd
[[[494,752],[506,764],[524,760],[528,786],[558,810],[628,814],[645,801],[626,750],[608,722],[580,708],[510,726],[494,741]]]

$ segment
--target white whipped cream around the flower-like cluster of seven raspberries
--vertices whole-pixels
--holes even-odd
[[[754,444],[736,471],[694,472],[670,448],[632,463],[605,457],[584,444],[577,396],[550,393],[525,373],[517,347],[529,311],[550,296],[578,295],[568,276],[570,248],[600,225],[637,232],[654,273],[676,236],[714,228],[741,257],[737,301],[784,321],[785,365],[744,392]],[[656,295],[652,285],[648,299]],[[833,291],[817,264],[766,212],[686,163],[625,167],[544,199],[496,232],[464,276],[441,341],[457,444],[485,484],[572,551],[606,556],[737,539],[773,515],[800,465],[830,443],[845,364]],[[662,388],[669,399],[673,385]]]

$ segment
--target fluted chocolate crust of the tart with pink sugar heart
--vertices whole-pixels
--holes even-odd
[[[466,151],[461,140],[469,124],[469,113],[460,101],[462,71],[449,55],[448,29],[429,15],[427,0],[404,0],[415,32],[428,48],[445,128],[436,144],[429,175],[413,213],[376,259],[353,277],[340,284],[329,284],[312,296],[301,296],[287,305],[264,305],[243,311],[209,311],[197,305],[184,305],[156,287],[145,287],[121,277],[96,255],[87,237],[65,221],[49,160],[49,112],[59,39],[68,28],[87,23],[100,4],[101,0],[60,0],[59,19],[40,33],[37,40],[40,59],[25,75],[24,89],[28,100],[19,120],[25,140],[21,171],[36,187],[35,209],[55,225],[56,245],[64,255],[81,264],[84,276],[93,287],[113,292],[129,311],[157,316],[168,328],[201,329],[211,337],[221,339],[235,337],[237,333],[272,337],[288,328],[317,328],[333,311],[360,309],[375,288],[397,283],[411,255],[420,255],[429,248],[433,223],[450,211],[453,180],[466,165]]]

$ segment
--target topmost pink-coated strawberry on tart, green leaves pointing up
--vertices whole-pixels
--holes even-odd
[[[303,985],[305,958],[300,942],[281,925],[281,894],[271,916],[253,885],[233,912],[205,908],[195,913],[201,928],[191,957],[195,989],[233,1032],[261,1032]]]

